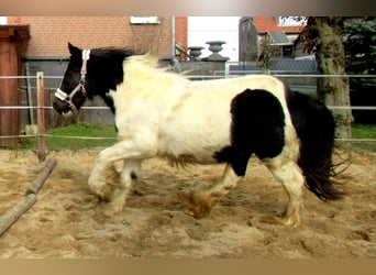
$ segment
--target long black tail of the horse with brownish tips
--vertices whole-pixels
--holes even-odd
[[[292,124],[300,139],[298,165],[306,177],[306,187],[321,200],[341,198],[335,188],[336,173],[332,160],[335,123],[330,110],[318,99],[299,92],[287,92]]]

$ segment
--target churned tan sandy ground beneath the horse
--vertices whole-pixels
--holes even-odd
[[[223,166],[143,165],[122,213],[106,217],[87,179],[98,152],[51,152],[57,165],[37,202],[0,237],[1,258],[336,258],[376,257],[376,156],[353,154],[349,193],[325,204],[305,190],[302,224],[265,224],[284,210],[283,187],[256,160],[203,219],[184,213],[176,194],[214,183]],[[43,169],[34,153],[0,151],[0,216],[23,199]]]

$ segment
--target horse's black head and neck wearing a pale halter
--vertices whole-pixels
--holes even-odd
[[[86,98],[100,96],[114,112],[109,95],[124,79],[123,62],[135,52],[130,48],[81,50],[68,44],[70,59],[60,87],[55,92],[54,109],[63,114],[79,110]]]

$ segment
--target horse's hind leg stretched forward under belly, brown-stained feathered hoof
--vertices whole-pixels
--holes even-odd
[[[186,213],[197,219],[203,218],[210,209],[224,197],[243,177],[237,176],[231,164],[226,164],[221,179],[208,190],[191,191],[178,195],[178,199],[186,207]]]

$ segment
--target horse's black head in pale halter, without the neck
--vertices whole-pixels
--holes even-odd
[[[55,92],[53,107],[58,113],[78,110],[87,97],[87,64],[90,51],[82,51],[68,43],[70,59],[60,87]]]

